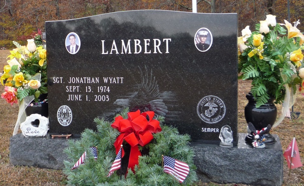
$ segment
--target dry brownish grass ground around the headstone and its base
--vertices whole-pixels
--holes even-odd
[[[6,65],[6,57],[9,50],[0,50],[0,69]],[[238,82],[238,132],[246,133],[247,123],[244,118],[244,107],[247,104],[245,95],[250,90],[250,82]],[[0,86],[0,93],[4,91]],[[278,110],[281,106],[277,105]],[[12,166],[9,164],[9,139],[12,136],[18,114],[18,105],[11,106],[0,98],[0,185],[64,185],[66,177],[61,170],[41,169],[37,167]],[[277,134],[281,140],[283,150],[289,145],[293,137],[296,137],[301,161],[304,163],[304,97],[297,95],[294,105],[295,112],[302,112],[296,120],[285,118],[282,123],[272,129],[272,134]],[[279,116],[279,115],[278,115]],[[304,185],[304,167],[289,170],[284,161],[283,185]],[[267,174],[267,173],[265,173]],[[198,185],[220,185],[215,183],[198,183]],[[236,184],[225,184],[226,186]],[[237,184],[239,186],[243,184]],[[244,185],[243,185],[244,186]]]

